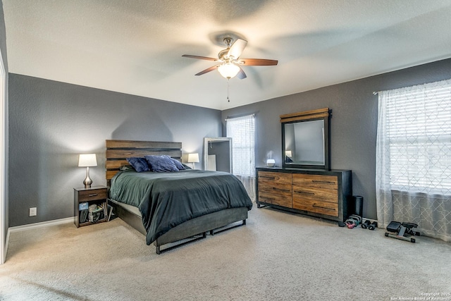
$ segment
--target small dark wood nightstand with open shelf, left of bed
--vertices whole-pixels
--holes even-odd
[[[80,188],[74,188],[73,189],[73,213],[75,216],[75,226],[82,227],[82,226],[88,226],[92,225],[93,223],[101,223],[104,221],[108,221],[108,188],[105,186],[92,186],[90,188],[80,187]],[[97,206],[103,209],[103,215],[97,214],[96,216],[103,216],[101,219],[92,219],[92,221],[89,221],[88,218],[85,219],[85,221],[82,221],[80,223],[80,214],[83,214],[82,211],[80,211],[80,203],[87,203],[87,207],[97,204]],[[86,207],[86,211],[87,211]],[[87,212],[84,212],[87,214]],[[102,213],[102,211],[100,211]]]

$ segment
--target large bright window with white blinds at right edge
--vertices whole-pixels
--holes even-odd
[[[387,183],[397,190],[451,194],[451,80],[383,91],[379,102]]]

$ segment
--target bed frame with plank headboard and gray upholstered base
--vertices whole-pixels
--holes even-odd
[[[166,154],[181,161],[181,142],[153,142],[153,141],[132,141],[132,140],[106,140],[106,183],[111,184],[111,178],[118,173],[121,166],[129,165],[127,158],[131,156],[162,155]],[[116,202],[109,199],[116,216],[128,223],[140,233],[146,235],[146,230],[142,224],[142,216],[136,208],[130,205]],[[246,224],[247,207],[229,208],[216,211],[211,214],[199,216],[190,221],[185,221],[175,226],[167,233],[161,235],[154,241],[156,254],[161,254],[175,247],[180,247],[189,242],[206,238],[206,233],[210,235],[219,233],[230,228],[235,228]],[[234,224],[241,221],[240,224]],[[228,228],[224,228],[228,226]],[[171,244],[171,247],[161,249],[162,245]],[[176,242],[176,243],[175,243]]]

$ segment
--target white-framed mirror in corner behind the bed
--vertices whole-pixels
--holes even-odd
[[[232,138],[204,138],[204,169],[232,172]]]

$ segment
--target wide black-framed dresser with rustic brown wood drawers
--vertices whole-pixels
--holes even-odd
[[[322,169],[256,168],[257,207],[271,206],[333,221],[351,212],[352,172]]]

